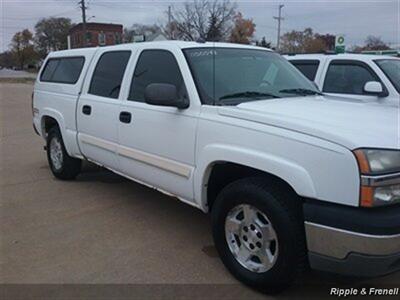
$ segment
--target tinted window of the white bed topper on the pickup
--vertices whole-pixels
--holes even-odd
[[[84,63],[85,58],[83,57],[49,59],[43,69],[40,80],[74,84],[79,79]]]

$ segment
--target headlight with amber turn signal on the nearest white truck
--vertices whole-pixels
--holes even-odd
[[[400,150],[358,149],[360,205],[364,207],[400,203]]]

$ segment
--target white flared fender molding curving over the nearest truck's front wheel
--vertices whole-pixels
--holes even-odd
[[[314,198],[316,191],[309,173],[300,165],[268,153],[249,150],[235,145],[210,144],[201,152],[194,174],[195,201],[205,212],[207,207],[207,182],[214,164],[231,162],[274,174],[302,196]]]

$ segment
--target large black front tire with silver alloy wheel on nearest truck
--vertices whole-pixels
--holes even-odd
[[[220,192],[211,212],[214,243],[238,280],[267,293],[295,281],[306,264],[298,201],[263,178],[241,179]]]

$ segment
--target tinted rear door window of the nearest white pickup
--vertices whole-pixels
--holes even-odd
[[[93,72],[89,94],[117,99],[130,55],[130,51],[104,53]]]

